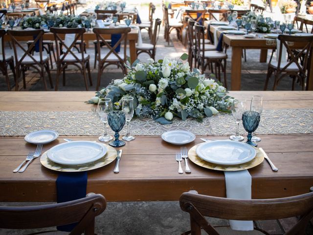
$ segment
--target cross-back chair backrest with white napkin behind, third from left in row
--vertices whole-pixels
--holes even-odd
[[[50,32],[54,35],[55,40],[55,47],[57,51],[57,63],[62,63],[67,55],[72,55],[76,61],[81,61],[82,63],[85,62],[85,56],[84,56],[84,33],[86,32],[85,28],[55,28],[51,27]],[[66,34],[75,34],[75,38],[72,41],[71,45],[66,45],[66,42],[63,41],[63,38],[66,37]],[[81,58],[77,56],[77,53],[74,53],[72,51],[73,47],[77,44],[77,41],[80,41],[80,54]],[[61,46],[59,46],[61,45]],[[64,54],[61,56],[61,50],[64,47],[66,51],[63,51]]]

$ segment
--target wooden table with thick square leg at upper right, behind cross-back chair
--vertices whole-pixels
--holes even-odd
[[[217,30],[217,36],[219,38],[220,34],[223,32],[219,30],[220,25],[210,25],[210,32],[214,33]],[[266,63],[268,57],[268,49],[275,49],[276,44],[268,44],[268,38],[265,38],[265,33],[257,33],[256,38],[244,38],[243,35],[233,35],[224,34],[223,42],[231,47],[231,90],[240,91],[241,90],[241,67],[242,67],[242,53],[243,49],[260,49],[260,63]],[[271,39],[272,40],[272,39]],[[292,46],[292,48],[300,49],[303,48],[303,44],[298,44]],[[311,65],[308,68],[313,68],[313,60],[311,60]],[[307,88],[309,91],[313,91],[313,72],[309,73],[309,78],[307,79]]]

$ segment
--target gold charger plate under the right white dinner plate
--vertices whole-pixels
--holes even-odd
[[[200,157],[198,157],[196,153],[196,149],[199,146],[199,144],[193,146],[189,152],[188,152],[188,158],[191,162],[194,164],[200,165],[204,168],[211,169],[211,170],[225,170],[225,171],[237,171],[237,170],[245,170],[252,167],[255,167],[259,164],[261,164],[264,160],[264,154],[258,149],[256,150],[256,156],[253,160],[250,162],[244,163],[244,164],[237,164],[237,165],[220,165],[220,164],[214,164],[209,163],[204,160],[202,160]]]

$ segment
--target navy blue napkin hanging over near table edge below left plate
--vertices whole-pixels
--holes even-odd
[[[56,185],[58,203],[84,198],[87,190],[87,171],[60,172]],[[77,223],[58,226],[57,230],[70,232],[76,225]]]

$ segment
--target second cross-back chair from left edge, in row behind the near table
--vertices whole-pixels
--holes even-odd
[[[11,37],[11,42],[14,50],[15,57],[15,90],[18,91],[18,80],[21,77],[23,78],[23,88],[26,89],[26,80],[25,80],[25,71],[29,68],[33,68],[40,74],[40,77],[43,79],[45,91],[47,90],[47,84],[45,82],[45,71],[48,74],[50,81],[50,86],[53,88],[53,83],[51,79],[50,69],[49,69],[49,57],[43,55],[43,35],[45,31],[43,29],[34,29],[34,30],[8,30],[8,35]],[[32,37],[34,41],[28,46],[27,49],[23,47],[19,39],[24,37]],[[39,55],[32,55],[32,51],[37,46],[39,47]],[[22,50],[22,53],[18,51]]]

